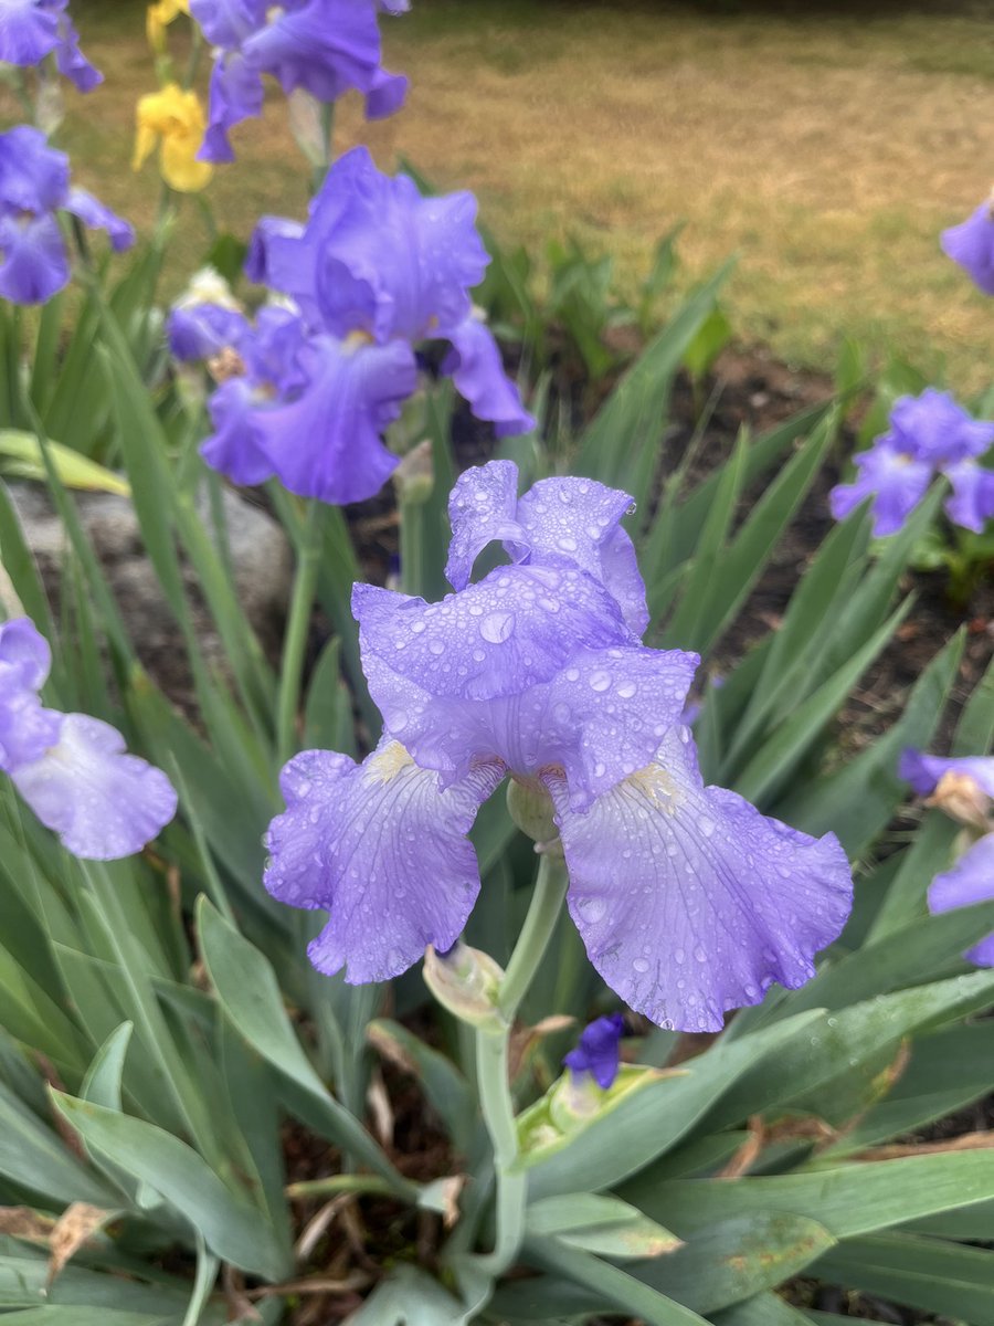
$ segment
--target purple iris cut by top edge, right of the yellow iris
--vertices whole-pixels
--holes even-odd
[[[190,12],[215,48],[209,123],[200,158],[235,159],[228,133],[262,111],[262,74],[289,95],[297,89],[333,102],[346,91],[366,97],[368,119],[403,105],[407,78],[380,66],[378,9],[399,13],[406,4],[376,0],[190,0]]]

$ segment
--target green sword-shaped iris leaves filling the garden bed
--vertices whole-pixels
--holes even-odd
[[[489,289],[520,285],[520,259],[493,256]],[[106,302],[90,292],[72,317],[48,304],[27,377],[21,329],[0,310],[4,436],[46,484],[69,549],[52,603],[0,484],[5,615],[16,615],[12,589],[57,642],[52,703],[113,721],[180,794],[154,851],[102,865],[62,851],[0,784],[0,1313],[24,1326],[220,1326],[276,1323],[319,1302],[325,1315],[307,1319],[351,1310],[360,1326],[611,1314],[804,1326],[840,1319],[807,1306],[824,1282],[994,1323],[994,1148],[913,1139],[991,1087],[994,1022],[981,1014],[994,971],[961,955],[994,927],[994,903],[930,916],[926,888],[956,827],[937,810],[913,833],[892,827],[908,800],[900,753],[937,731],[964,634],[937,642],[893,725],[840,753],[851,749],[840,711],[914,610],[907,572],[941,493],[885,542],[872,541],[865,512],[832,526],[778,629],[702,693],[705,781],[839,835],[856,870],[846,931],[810,984],[738,1013],[692,1058],[681,1048],[669,1070],[679,1033],[628,1025],[628,1058],[660,1071],[533,1158],[527,1273],[494,1285],[465,1269],[493,1229],[493,1158],[465,1037],[417,972],[387,988],[311,971],[309,919],[260,883],[262,834],[282,808],[277,682],[211,516],[223,480],[196,453],[203,416],[163,373],[162,260],[159,237]],[[700,651],[702,675],[836,455],[848,403],[843,394],[770,432],[744,431],[704,479],[689,451],[660,473],[675,378],[714,334],[724,278],[671,297],[665,325],[586,423],[551,408],[539,381],[538,430],[496,452],[525,485],[569,472],[635,497],[627,528],[648,590],[647,640]],[[445,591],[457,473],[451,387],[429,386],[412,408],[432,479],[399,503],[404,589],[433,599]],[[193,713],[139,663],[86,541],[73,485],[93,479],[78,457],[95,452],[131,495]],[[196,501],[200,489],[212,503]],[[301,507],[269,496],[302,548]],[[349,613],[363,577],[345,514],[326,508],[322,522],[317,598],[330,629],[300,739],[360,756],[379,723]],[[223,664],[193,630],[191,579]],[[991,737],[994,671],[961,705],[952,748],[982,754]],[[473,839],[484,884],[467,939],[505,963],[534,855],[500,802]],[[611,1006],[561,918],[521,1009],[522,1028],[541,1025],[514,1055],[518,1111],[558,1077],[577,1028]],[[575,1020],[573,1030],[549,1018]],[[412,1089],[443,1136],[433,1170],[390,1138]],[[288,1172],[301,1154],[319,1162]],[[777,1293],[798,1277],[801,1288]]]

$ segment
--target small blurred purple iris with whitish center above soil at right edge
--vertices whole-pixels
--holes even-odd
[[[953,484],[946,513],[967,529],[983,528],[994,514],[994,475],[975,457],[994,444],[994,423],[973,419],[948,391],[926,387],[920,396],[901,396],[889,430],[855,457],[857,476],[830,493],[832,514],[844,520],[872,497],[873,534],[897,533],[928,492],[937,473]]]

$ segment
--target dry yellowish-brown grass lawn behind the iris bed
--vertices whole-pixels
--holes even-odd
[[[154,86],[143,4],[76,0],[107,81],[72,98],[78,174],[139,223],[152,166],[130,171],[135,98]],[[789,362],[831,367],[843,334],[888,347],[961,390],[990,382],[994,306],[938,251],[994,176],[989,4],[933,0],[778,5],[747,0],[414,0],[384,19],[408,107],[363,126],[379,163],[410,156],[480,196],[492,228],[541,251],[574,233],[618,257],[623,281],[679,219],[689,282],[728,253],[733,322]],[[180,20],[176,34],[180,36]],[[182,38],[178,41],[182,45]],[[262,212],[301,215],[306,171],[276,89],[236,131],[239,163],[211,198],[247,236]],[[204,231],[190,208],[183,261]]]

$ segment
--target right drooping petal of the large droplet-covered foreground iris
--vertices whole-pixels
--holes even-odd
[[[802,985],[846,922],[852,884],[836,838],[704,788],[684,728],[586,814],[570,810],[562,780],[546,781],[590,960],[663,1026],[721,1030],[774,981]]]

